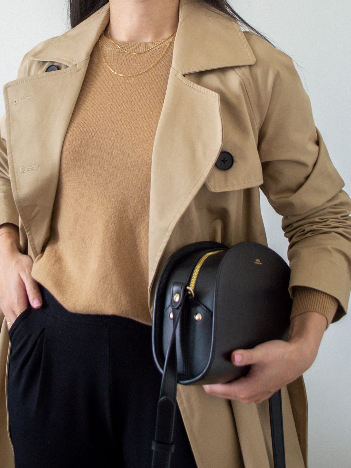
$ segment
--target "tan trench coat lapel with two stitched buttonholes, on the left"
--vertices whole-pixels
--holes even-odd
[[[34,257],[50,233],[61,147],[88,63],[7,84],[7,154],[14,199]]]

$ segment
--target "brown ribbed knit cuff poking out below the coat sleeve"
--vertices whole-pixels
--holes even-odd
[[[319,312],[327,318],[327,328],[336,313],[339,301],[326,292],[307,286],[294,286],[290,320],[303,312]]]

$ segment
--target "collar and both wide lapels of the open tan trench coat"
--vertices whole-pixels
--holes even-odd
[[[222,145],[219,94],[185,75],[255,63],[234,20],[203,2],[180,0],[172,66],[151,164],[148,303],[173,227],[204,183]],[[105,4],[87,20],[31,56],[63,64],[58,71],[19,78],[3,88],[14,197],[33,255],[50,233],[60,154],[90,53],[110,21]],[[191,44],[191,45],[190,45]]]

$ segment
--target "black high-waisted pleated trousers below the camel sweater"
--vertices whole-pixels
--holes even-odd
[[[7,408],[15,468],[150,468],[161,373],[151,326],[77,314],[39,284],[9,330]],[[196,468],[177,405],[171,467]]]

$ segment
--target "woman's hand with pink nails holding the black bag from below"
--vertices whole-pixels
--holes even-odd
[[[244,403],[263,402],[312,365],[326,326],[327,319],[319,312],[294,316],[287,341],[271,340],[232,352],[234,366],[251,365],[248,374],[229,383],[204,385],[205,391]]]

